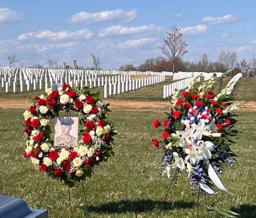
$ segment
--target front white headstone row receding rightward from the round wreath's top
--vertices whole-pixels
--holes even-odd
[[[165,75],[150,76],[144,78],[138,78],[135,80],[127,80],[117,83],[109,83],[104,85],[104,98],[108,96],[116,95],[124,92],[136,90],[145,86],[151,86],[156,83],[164,82]]]

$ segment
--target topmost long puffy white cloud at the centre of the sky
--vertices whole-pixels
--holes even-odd
[[[130,22],[135,19],[136,10],[124,11],[123,9],[117,10],[104,10],[98,13],[90,13],[87,11],[80,11],[68,19],[68,23],[81,23],[92,24],[102,22]]]

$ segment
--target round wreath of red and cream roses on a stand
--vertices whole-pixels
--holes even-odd
[[[53,91],[49,88],[43,95],[36,96],[29,110],[23,113],[25,158],[30,158],[39,171],[64,180],[69,186],[90,177],[94,165],[114,154],[111,146],[116,135],[114,123],[104,120],[110,111],[108,105],[99,100],[99,93],[91,94],[88,87],[78,89],[68,84]],[[74,147],[53,148],[49,120],[57,117],[59,111],[79,114],[81,140]]]

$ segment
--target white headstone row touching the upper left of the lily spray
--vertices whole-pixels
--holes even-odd
[[[174,92],[177,89],[186,89],[189,86],[189,83],[191,81],[194,80],[195,77],[190,77],[190,78],[184,78],[183,80],[179,80],[177,82],[168,84],[168,85],[164,85],[163,87],[163,98],[168,98],[169,96],[171,96],[172,94],[174,94]],[[200,77],[198,77],[198,81],[200,82]]]

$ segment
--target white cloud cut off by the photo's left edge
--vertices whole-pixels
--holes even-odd
[[[9,25],[23,19],[21,13],[9,8],[0,8],[0,24]]]

